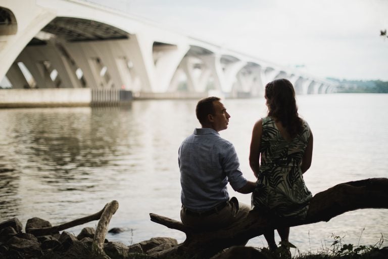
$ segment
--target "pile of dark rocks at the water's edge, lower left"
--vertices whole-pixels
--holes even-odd
[[[51,223],[39,218],[29,219],[23,226],[17,218],[0,223],[0,258],[4,259],[88,259],[106,258],[91,253],[95,228],[86,227],[77,235],[67,231],[60,234],[35,236],[29,229],[52,227]],[[112,229],[110,231],[115,231]],[[151,238],[127,246],[105,239],[104,251],[111,259],[155,258],[153,254],[177,245],[168,237]]]

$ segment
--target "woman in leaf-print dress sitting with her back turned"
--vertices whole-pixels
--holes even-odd
[[[276,217],[306,217],[312,198],[303,180],[311,165],[313,135],[298,115],[293,84],[277,79],[265,86],[268,116],[255,123],[249,161],[257,178],[252,206]],[[289,228],[277,229],[288,242]],[[277,246],[274,230],[264,233],[269,249]]]

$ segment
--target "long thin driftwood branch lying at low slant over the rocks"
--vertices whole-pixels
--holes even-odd
[[[102,210],[100,210],[99,212],[94,213],[92,215],[88,215],[86,217],[83,217],[83,218],[80,218],[80,219],[76,219],[76,220],[73,220],[73,221],[70,221],[70,222],[58,225],[58,226],[54,226],[54,227],[29,228],[29,229],[26,229],[26,233],[33,234],[34,236],[52,235],[52,234],[59,233],[59,231],[62,231],[62,230],[65,230],[65,229],[76,227],[76,226],[79,226],[79,225],[82,225],[82,224],[85,224],[85,223],[88,223],[88,222],[91,222],[91,221],[100,220],[101,215],[105,211],[106,207],[109,204],[113,203],[113,202],[117,203],[117,201],[112,201],[112,202],[106,204],[105,207]]]

